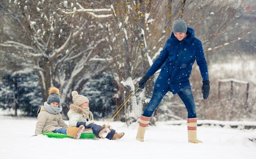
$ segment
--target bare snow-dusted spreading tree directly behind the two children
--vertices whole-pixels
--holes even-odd
[[[62,102],[69,98],[72,90],[79,90],[88,79],[97,76],[105,67],[86,72],[95,48],[104,41],[97,24],[81,16],[63,15],[58,10],[64,2],[14,1],[0,4],[6,19],[16,23],[16,37],[8,33],[0,44],[12,58],[22,57],[18,65],[33,68],[40,79],[44,101],[47,89],[54,85],[61,89]],[[67,103],[68,104],[68,103]],[[67,104],[63,103],[64,110]]]

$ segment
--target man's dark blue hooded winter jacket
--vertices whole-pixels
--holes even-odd
[[[161,68],[154,88],[176,94],[183,89],[191,88],[189,76],[195,60],[199,66],[202,80],[209,81],[202,42],[195,38],[195,31],[187,27],[186,38],[182,41],[177,40],[174,33],[171,34],[171,38],[168,38],[146,74],[150,77]]]

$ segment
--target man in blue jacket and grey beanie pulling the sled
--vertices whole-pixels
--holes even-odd
[[[195,38],[195,31],[187,27],[186,22],[179,18],[173,23],[171,38],[168,38],[155,62],[139,81],[139,88],[143,89],[150,76],[161,68],[154,85],[153,95],[139,120],[136,136],[138,141],[144,141],[146,127],[154,110],[164,95],[171,91],[173,94],[177,93],[179,95],[188,111],[188,141],[191,143],[202,142],[197,139],[196,135],[196,108],[189,82],[189,76],[195,60],[202,76],[203,98],[207,99],[210,91],[210,82],[202,42]]]

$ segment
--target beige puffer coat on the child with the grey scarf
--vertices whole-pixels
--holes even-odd
[[[44,106],[41,106],[40,113],[37,117],[35,135],[42,132],[52,132],[60,127],[68,128],[62,119],[61,113],[51,114],[47,112]]]

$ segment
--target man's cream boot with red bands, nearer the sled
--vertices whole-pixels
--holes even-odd
[[[140,116],[136,140],[144,142],[144,134],[150,119],[151,117],[144,117],[143,115]]]

